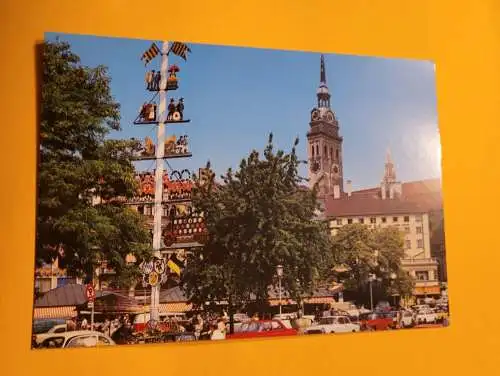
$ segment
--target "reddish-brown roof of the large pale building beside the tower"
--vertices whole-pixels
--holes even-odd
[[[443,207],[441,180],[427,179],[403,183],[401,197],[382,200],[379,187],[346,193],[340,199],[326,198],[327,217],[402,215],[438,211]]]

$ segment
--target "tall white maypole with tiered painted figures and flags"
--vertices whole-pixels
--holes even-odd
[[[190,122],[184,116],[184,98],[177,100],[171,98],[167,105],[167,92],[179,88],[178,73],[181,71],[175,64],[169,66],[169,55],[172,53],[186,61],[188,52],[191,52],[190,48],[182,42],[173,42],[169,45],[169,42],[165,41],[161,48],[156,43],[152,43],[141,57],[144,65],[147,66],[156,56],[161,55],[160,70],[150,70],[145,76],[146,90],[152,92],[153,97],[141,106],[139,115],[134,121],[136,125],[157,126],[156,144],[150,137],[146,137],[143,143],[139,143],[139,150],[135,152],[135,160],[156,161],[156,168],[154,174],[148,172],[138,176],[140,191],[137,199],[131,202],[131,204],[137,204],[138,210],[144,215],[153,215],[154,257],[141,264],[143,287],[151,287],[150,321],[153,325],[158,321],[160,286],[167,281],[168,270],[177,275],[180,274],[180,268],[172,261],[172,258],[164,258],[162,255],[162,253],[165,254],[164,244],[162,244],[162,218],[165,204],[164,163],[169,158],[191,157],[191,152],[187,135],[172,135],[166,138],[165,128],[167,124]],[[157,97],[159,97],[158,103]],[[168,177],[168,174],[166,176]]]

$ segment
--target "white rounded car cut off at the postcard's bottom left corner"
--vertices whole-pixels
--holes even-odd
[[[52,333],[38,348],[96,347],[115,345],[106,334],[90,330],[74,330],[64,333]]]

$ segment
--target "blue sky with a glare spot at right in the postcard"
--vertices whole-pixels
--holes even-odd
[[[155,136],[154,126],[132,124],[142,103],[147,68],[140,61],[151,41],[48,33],[68,41],[88,66],[109,68],[114,98],[121,104],[122,131],[113,138]],[[159,44],[159,43],[158,43]],[[159,44],[160,45],[160,44]],[[161,46],[161,45],[160,45]],[[237,167],[252,149],[262,150],[269,132],[289,150],[296,136],[298,153],[307,158],[306,133],[316,104],[320,54],[296,51],[189,44],[187,62],[177,64],[187,125],[167,134],[188,134],[193,157],[169,161],[174,169],[197,170],[209,159],[217,174]],[[158,56],[149,69],[158,69]],[[344,178],[353,187],[379,184],[388,147],[398,179],[440,177],[435,72],[428,61],[326,54],[332,108],[344,137]],[[141,162],[139,170],[154,167]],[[307,176],[304,166],[303,176]]]

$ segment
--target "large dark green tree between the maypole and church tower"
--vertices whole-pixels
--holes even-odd
[[[295,147],[264,150],[243,159],[222,184],[196,178],[193,205],[205,215],[208,240],[187,260],[182,285],[191,301],[229,301],[233,308],[267,302],[282,265],[283,290],[300,301],[321,280],[331,253],[324,223],[314,220],[316,189],[300,186]]]

